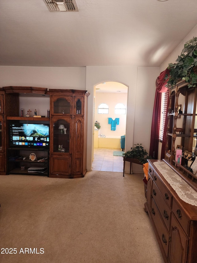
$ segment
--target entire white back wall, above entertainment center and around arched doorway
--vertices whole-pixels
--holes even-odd
[[[93,67],[53,68],[0,66],[0,86],[34,86],[42,88],[82,89],[88,97],[87,170],[91,170],[93,152],[94,86],[105,81],[117,81],[128,87],[125,150],[134,143],[143,143],[149,150],[155,80],[158,68]],[[21,107],[21,105],[20,105]],[[25,106],[24,106],[25,107]],[[32,105],[33,110],[36,108]],[[48,102],[46,103],[46,109]],[[43,115],[46,115],[43,114]],[[136,171],[142,168],[136,167]],[[126,166],[126,172],[129,171]],[[135,170],[133,170],[135,171]]]

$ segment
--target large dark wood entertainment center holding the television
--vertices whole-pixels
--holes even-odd
[[[19,97],[49,97],[49,117],[19,116]],[[42,175],[58,178],[78,178],[86,174],[87,97],[86,90],[49,89],[9,86],[0,89],[0,175],[28,174],[31,166],[45,166]],[[32,110],[33,111],[33,110]],[[47,108],[45,110],[47,112]],[[31,114],[34,115],[34,114]],[[10,122],[50,125],[49,147],[10,146]],[[25,139],[24,139],[25,140]],[[36,152],[44,160],[32,161]],[[46,158],[46,159],[45,159]],[[22,170],[22,167],[25,167]],[[38,174],[37,172],[31,174]]]

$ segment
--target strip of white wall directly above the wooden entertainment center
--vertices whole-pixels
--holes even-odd
[[[0,86],[86,89],[86,68],[0,66]]]

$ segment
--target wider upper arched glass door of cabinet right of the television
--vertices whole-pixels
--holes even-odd
[[[52,115],[72,115],[72,97],[66,96],[60,98],[53,96],[52,101]]]

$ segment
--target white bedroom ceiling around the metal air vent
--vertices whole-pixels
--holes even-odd
[[[197,25],[196,0],[0,0],[0,65],[159,67]],[[189,40],[189,39],[188,39]]]

